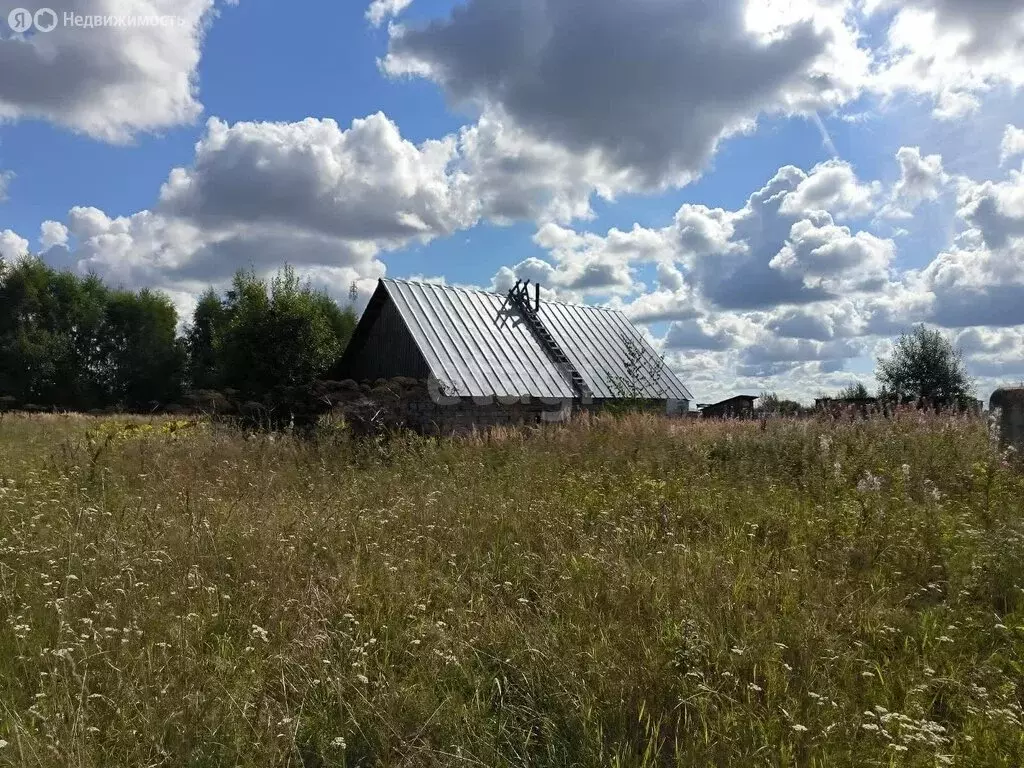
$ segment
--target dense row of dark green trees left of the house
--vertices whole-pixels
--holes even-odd
[[[190,321],[179,333],[158,291],[0,259],[0,407],[151,411],[195,390],[266,401],[323,376],[357,318],[285,267],[270,280],[239,272]]]

